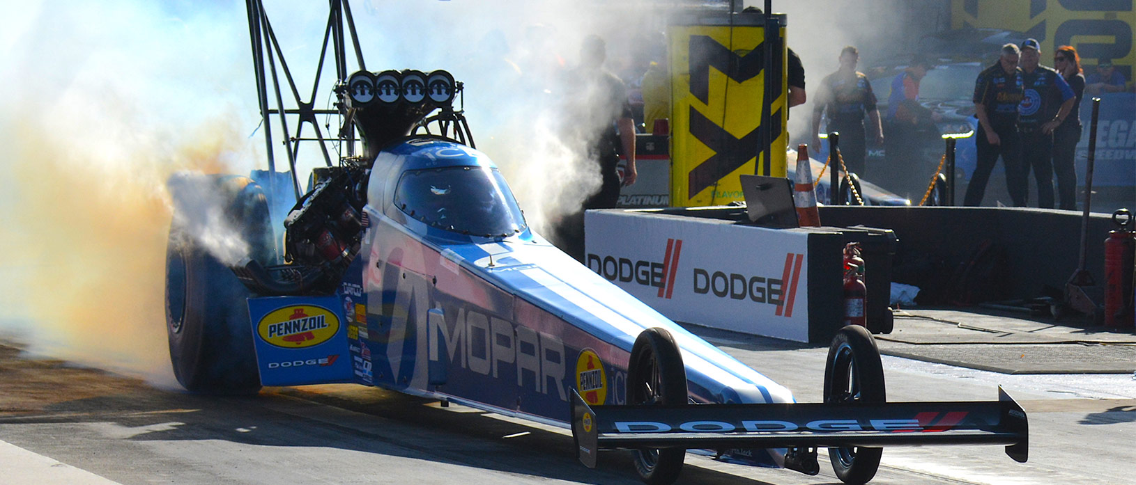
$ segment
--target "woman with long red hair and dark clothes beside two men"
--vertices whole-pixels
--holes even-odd
[[[1058,179],[1058,209],[1077,210],[1077,171],[1074,154],[1080,142],[1080,100],[1085,96],[1085,75],[1080,68],[1080,56],[1071,45],[1062,45],[1053,54],[1053,67],[1077,96],[1072,110],[1053,130],[1053,173]]]

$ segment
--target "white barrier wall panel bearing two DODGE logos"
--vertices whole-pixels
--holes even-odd
[[[625,211],[585,227],[587,266],[670,320],[809,341],[807,230]]]

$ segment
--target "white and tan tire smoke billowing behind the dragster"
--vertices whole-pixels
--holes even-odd
[[[18,326],[33,350],[172,383],[162,295],[172,218],[166,180],[183,170],[264,167],[244,2],[10,3],[0,20],[0,306],[9,315],[0,330]],[[265,3],[307,99],[326,2]],[[578,62],[587,34],[607,39],[610,70],[627,69],[641,35],[666,23],[660,3],[373,0],[352,7],[368,69],[448,69],[465,83],[478,147],[501,165],[529,221],[543,229],[599,185],[582,156],[586,143],[562,135],[574,121],[566,119],[559,79]],[[788,11],[790,44],[815,86],[835,68],[826,62],[843,43],[858,42],[858,29],[886,18],[880,8],[899,3],[876,0],[859,17],[852,14],[862,2],[778,1],[775,10]],[[837,16],[847,28],[830,27]],[[331,101],[329,87],[316,93],[316,108]],[[797,126],[807,118],[792,119]],[[277,170],[286,167],[281,139],[274,134]],[[318,152],[302,151],[301,180],[323,163]],[[243,250],[224,231],[201,233],[215,235],[209,240],[226,258]]]

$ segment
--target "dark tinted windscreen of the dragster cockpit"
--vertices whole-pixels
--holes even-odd
[[[462,235],[506,237],[525,230],[520,207],[498,169],[408,170],[394,205],[431,227]]]

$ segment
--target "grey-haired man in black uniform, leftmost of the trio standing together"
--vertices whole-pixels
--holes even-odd
[[[1024,91],[1021,69],[1018,68],[1020,54],[1018,45],[1003,45],[997,62],[982,71],[975,82],[972,101],[975,117],[978,118],[975,139],[978,154],[963,198],[964,205],[983,203],[986,182],[999,155],[1005,167],[1005,186],[1013,205],[1026,205],[1026,172],[1021,170],[1021,139],[1018,134],[1018,105]]]

